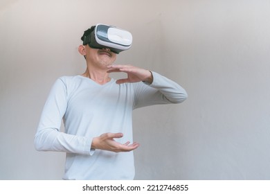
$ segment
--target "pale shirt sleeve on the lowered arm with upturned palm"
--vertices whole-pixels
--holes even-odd
[[[36,150],[93,155],[92,138],[60,132],[66,106],[66,84],[62,78],[59,78],[53,85],[42,111],[35,134]]]

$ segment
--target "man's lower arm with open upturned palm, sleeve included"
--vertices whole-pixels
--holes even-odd
[[[121,133],[105,133],[97,137],[87,137],[60,132],[66,105],[66,85],[60,78],[53,85],[44,105],[35,134],[36,150],[93,155],[95,149],[129,152],[138,148],[138,143],[129,144],[129,142],[126,142],[121,144],[114,141],[115,138],[123,136]]]

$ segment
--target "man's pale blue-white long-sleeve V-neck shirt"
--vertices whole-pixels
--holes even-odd
[[[39,151],[66,152],[63,179],[134,179],[133,152],[91,150],[100,134],[122,132],[120,143],[132,139],[132,110],[156,104],[181,103],[186,91],[152,72],[153,82],[105,85],[83,76],[58,78],[46,100],[35,134]],[[64,132],[60,126],[64,121]]]

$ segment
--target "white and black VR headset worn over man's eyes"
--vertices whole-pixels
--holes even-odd
[[[132,46],[132,34],[127,30],[97,24],[84,31],[82,36],[83,45],[88,44],[91,48],[109,48],[111,52],[119,54]]]

